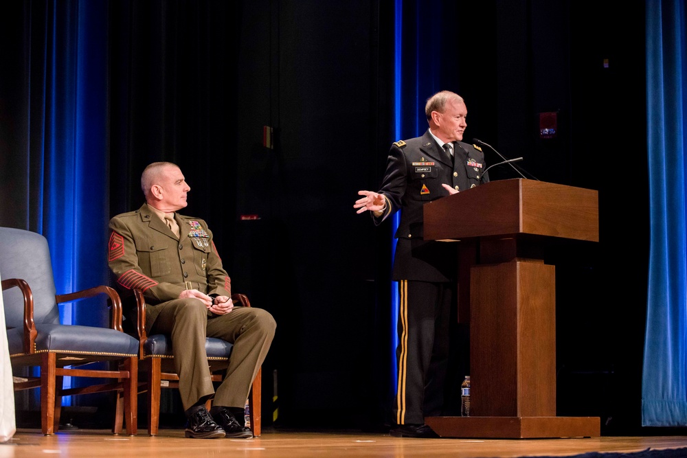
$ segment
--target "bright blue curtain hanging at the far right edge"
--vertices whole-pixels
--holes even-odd
[[[646,2],[651,247],[643,426],[687,425],[684,14],[679,0]]]

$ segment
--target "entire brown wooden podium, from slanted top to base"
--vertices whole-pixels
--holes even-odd
[[[424,218],[425,240],[460,240],[471,371],[471,416],[425,422],[442,437],[599,436],[599,417],[556,416],[555,268],[543,261],[552,241],[598,242],[598,192],[492,181],[425,204]]]

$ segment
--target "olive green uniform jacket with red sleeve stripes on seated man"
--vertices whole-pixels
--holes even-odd
[[[146,330],[157,317],[155,306],[178,299],[185,289],[232,295],[231,279],[205,221],[177,213],[174,218],[179,239],[147,204],[110,220],[108,264],[122,292],[144,293]]]

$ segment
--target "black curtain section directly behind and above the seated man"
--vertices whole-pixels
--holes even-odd
[[[115,1],[109,8],[109,215],[137,209],[145,166],[171,161],[191,187],[185,213],[205,218],[226,253],[238,192],[241,2]]]

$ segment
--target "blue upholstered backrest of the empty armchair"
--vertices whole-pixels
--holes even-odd
[[[34,295],[34,322],[60,323],[47,240],[39,233],[0,227],[0,279],[21,278]],[[5,323],[23,326],[24,301],[19,288],[3,292]]]

